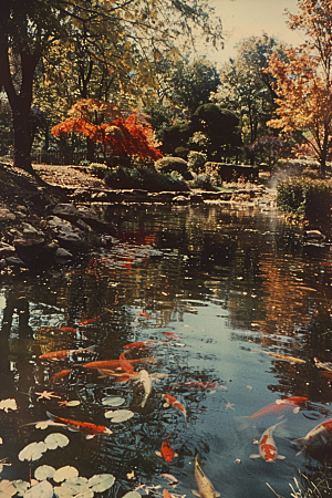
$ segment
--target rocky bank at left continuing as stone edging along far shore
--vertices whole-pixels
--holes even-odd
[[[43,165],[35,167],[35,172],[32,177],[10,165],[0,164],[2,276],[25,272],[31,266],[44,266],[52,261],[66,263],[89,249],[114,245],[112,224],[102,221],[100,217],[101,208],[110,204],[170,203],[185,206],[240,201],[252,207],[273,204],[273,196],[262,185],[241,184],[234,191],[148,193],[142,189],[113,190],[84,172],[79,172],[80,176],[73,181],[76,174],[73,167],[64,169]],[[64,173],[72,185],[68,181],[63,185]]]

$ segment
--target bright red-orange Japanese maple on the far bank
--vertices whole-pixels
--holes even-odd
[[[115,104],[96,98],[77,101],[69,114],[68,120],[53,126],[52,134],[59,137],[68,137],[70,133],[83,134],[92,142],[102,144],[104,159],[107,149],[115,156],[138,156],[153,160],[163,157],[151,124],[139,114],[124,120]]]

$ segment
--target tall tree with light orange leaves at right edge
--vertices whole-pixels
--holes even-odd
[[[304,43],[270,59],[269,71],[277,79],[278,118],[268,125],[286,134],[302,131],[305,143],[319,160],[324,176],[332,145],[332,2],[299,0],[299,14],[289,15],[292,30],[301,30]]]

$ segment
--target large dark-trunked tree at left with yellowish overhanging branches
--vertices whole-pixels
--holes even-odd
[[[53,43],[71,37],[73,27],[90,45],[103,38],[112,44],[116,34],[125,32],[128,50],[148,59],[154,48],[169,50],[179,40],[191,41],[188,35],[194,27],[217,43],[221,23],[218,19],[210,22],[211,15],[207,0],[0,0],[0,83],[12,111],[14,165],[33,172],[29,117],[35,69]],[[92,63],[81,74],[83,86]],[[118,59],[115,65],[121,64]]]

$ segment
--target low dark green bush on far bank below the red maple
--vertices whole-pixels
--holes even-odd
[[[163,175],[154,168],[126,169],[117,167],[110,170],[105,178],[111,188],[131,189],[139,188],[147,191],[185,191],[188,185],[170,175]]]

